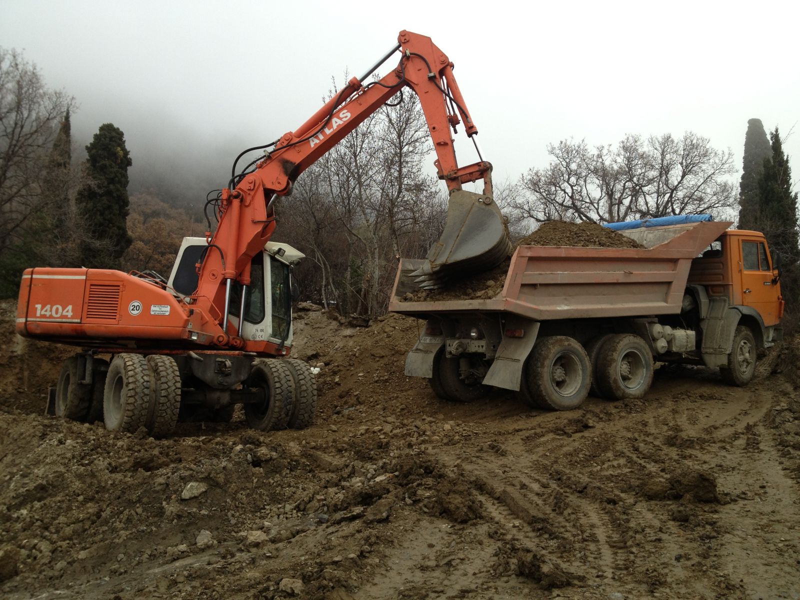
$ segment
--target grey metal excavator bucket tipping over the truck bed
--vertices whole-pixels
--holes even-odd
[[[428,250],[422,268],[411,274],[423,290],[448,279],[494,269],[511,250],[505,219],[490,196],[456,190],[447,201],[442,236]]]

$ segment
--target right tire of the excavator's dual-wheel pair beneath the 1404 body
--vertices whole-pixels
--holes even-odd
[[[178,423],[181,371],[174,358],[163,354],[148,356],[147,366],[150,369],[150,406],[145,426],[154,438],[164,438]]]

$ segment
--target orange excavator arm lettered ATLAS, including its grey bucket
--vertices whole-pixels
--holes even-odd
[[[379,81],[367,81],[398,50],[397,68]],[[445,231],[418,271],[418,282],[423,287],[441,286],[447,277],[464,271],[490,269],[508,254],[505,223],[492,199],[490,163],[459,167],[456,160],[452,135],[456,126],[463,123],[470,138],[478,129],[458,89],[453,63],[430,38],[404,30],[397,46],[370,71],[350,79],[306,122],[284,134],[253,171],[232,178],[233,189],[222,190],[219,223],[199,265],[198,289],[186,298],[213,315],[226,331],[218,336],[220,346],[236,338],[236,332],[226,327],[230,287],[233,282],[250,284],[250,259],[262,251],[275,228],[274,199],[290,194],[304,170],[404,88],[419,98],[437,154],[438,177],[450,190]],[[463,183],[479,179],[484,182],[483,194],[462,190]]]

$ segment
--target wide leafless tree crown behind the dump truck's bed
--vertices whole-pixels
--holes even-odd
[[[614,146],[590,148],[584,140],[547,147],[552,160],[520,179],[518,214],[537,222],[590,222],[655,218],[670,214],[721,215],[735,204],[733,153],[687,132],[646,140],[627,135]]]

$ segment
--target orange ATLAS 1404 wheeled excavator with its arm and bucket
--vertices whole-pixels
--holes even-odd
[[[394,70],[370,80],[397,54]],[[145,427],[154,436],[168,434],[178,418],[230,419],[239,403],[259,430],[309,425],[314,373],[287,358],[291,267],[303,255],[270,242],[274,202],[404,88],[419,98],[438,177],[450,192],[445,229],[414,273],[416,285],[435,288],[502,262],[510,240],[453,63],[430,38],[401,31],[390,52],[301,126],[239,155],[230,182],[210,201],[216,230],[183,240],[169,278],[102,269],[33,268],[22,274],[18,334],[82,347],[64,362],[49,410],[82,421],[102,419],[109,430]],[[480,158],[468,166],[458,166],[454,152],[461,123]],[[264,150],[263,157],[237,174],[238,160],[254,150]],[[462,190],[478,180],[482,194]],[[110,354],[110,362],[98,354]]]

